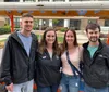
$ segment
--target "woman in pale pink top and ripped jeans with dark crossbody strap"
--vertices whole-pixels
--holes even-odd
[[[68,29],[64,34],[62,44],[62,79],[60,89],[61,92],[78,92],[80,75],[72,70],[69,60],[73,66],[78,69],[82,56],[82,47],[77,43],[76,32],[73,29]],[[68,58],[69,57],[69,58]]]

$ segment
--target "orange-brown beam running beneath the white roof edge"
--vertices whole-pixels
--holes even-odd
[[[21,16],[23,13],[32,13],[32,15],[34,16],[45,16],[45,17],[73,17],[73,16],[87,16],[87,17],[108,17],[109,16],[109,11],[108,10],[101,10],[98,13],[95,13],[94,10],[88,10],[86,11],[85,14],[80,15],[77,11],[43,11],[43,10],[36,10],[36,11],[27,11],[27,10],[23,10],[21,12],[19,12],[17,10],[12,10],[12,11],[0,11],[0,15],[5,15],[7,13],[13,14],[14,16]]]

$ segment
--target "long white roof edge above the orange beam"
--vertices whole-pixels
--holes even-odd
[[[0,2],[0,10],[109,10],[109,1]]]

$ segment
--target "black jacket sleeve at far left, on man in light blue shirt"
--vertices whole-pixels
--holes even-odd
[[[11,74],[10,74],[10,67],[11,67],[11,45],[10,45],[9,39],[5,42],[3,53],[2,53],[2,60],[1,60],[1,67],[0,67],[0,76],[1,78],[4,78],[4,82],[7,86],[11,84]]]

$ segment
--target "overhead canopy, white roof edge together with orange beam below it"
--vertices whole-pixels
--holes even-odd
[[[0,2],[0,15],[32,13],[45,17],[99,16],[109,18],[109,1]]]

